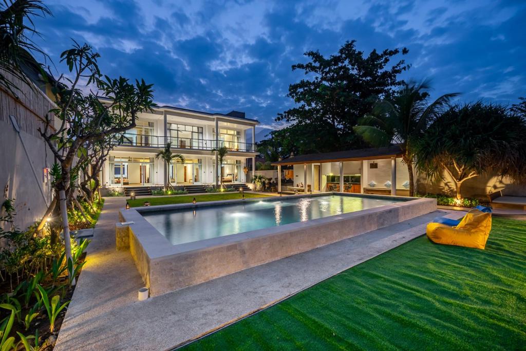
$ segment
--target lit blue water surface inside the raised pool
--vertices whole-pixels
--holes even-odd
[[[142,215],[173,245],[177,245],[356,212],[400,201],[404,200],[328,195],[205,206],[195,210],[159,210],[144,212]]]

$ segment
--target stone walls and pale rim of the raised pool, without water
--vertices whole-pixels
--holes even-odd
[[[301,195],[301,197],[330,194],[408,201],[179,245],[171,245],[168,239],[140,215],[140,212],[197,206],[184,204],[150,206],[139,210],[120,209],[120,220],[133,223],[116,225],[117,249],[130,249],[140,275],[146,286],[150,288],[150,295],[158,296],[436,210],[436,199],[428,198],[361,196],[362,194],[348,193],[319,193]],[[281,199],[297,197],[298,195],[282,196]],[[199,205],[215,206],[260,200],[261,198],[224,200],[214,204]],[[320,228],[323,228],[324,235],[319,235]]]

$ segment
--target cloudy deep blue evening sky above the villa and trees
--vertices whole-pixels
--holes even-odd
[[[407,47],[404,79],[431,78],[432,96],[504,104],[526,96],[526,2],[46,1],[37,42],[57,64],[71,38],[93,45],[104,74],[144,78],[158,104],[245,111],[277,128],[292,106],[290,66],[304,52]]]

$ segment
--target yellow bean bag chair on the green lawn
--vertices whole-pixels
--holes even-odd
[[[490,230],[491,213],[472,209],[456,227],[429,223],[426,234],[433,243],[484,249]]]

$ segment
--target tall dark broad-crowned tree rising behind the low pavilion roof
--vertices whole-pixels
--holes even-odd
[[[409,68],[403,60],[391,63],[403,48],[373,50],[368,56],[346,42],[336,55],[325,57],[318,51],[305,55],[308,63],[292,66],[306,78],[289,86],[288,96],[296,106],[279,114],[276,121],[291,125],[273,138],[282,139],[283,154],[329,152],[362,146],[352,127],[370,112],[378,98],[389,97],[401,85],[398,75]]]

